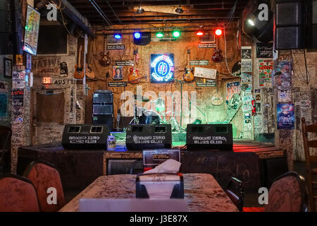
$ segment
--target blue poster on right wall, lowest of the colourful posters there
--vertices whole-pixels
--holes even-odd
[[[278,103],[278,129],[294,129],[294,105]]]

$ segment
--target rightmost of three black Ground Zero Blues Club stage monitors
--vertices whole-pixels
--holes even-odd
[[[187,150],[232,150],[232,124],[188,124]]]

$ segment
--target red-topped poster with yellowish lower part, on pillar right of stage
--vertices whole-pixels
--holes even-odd
[[[272,60],[259,60],[259,87],[272,87]]]

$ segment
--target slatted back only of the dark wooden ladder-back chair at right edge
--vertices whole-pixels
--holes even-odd
[[[304,141],[304,152],[305,152],[305,162],[306,169],[311,170],[311,164],[317,163],[317,156],[313,156],[309,152],[309,148],[317,148],[317,140],[309,141],[308,133],[317,133],[317,124],[306,125],[305,118],[302,118],[302,133]]]

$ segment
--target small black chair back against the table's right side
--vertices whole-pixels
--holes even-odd
[[[237,208],[242,211],[243,208],[243,186],[242,182],[235,178],[231,177],[227,189],[225,190],[225,193],[229,196],[232,203],[237,206]]]

